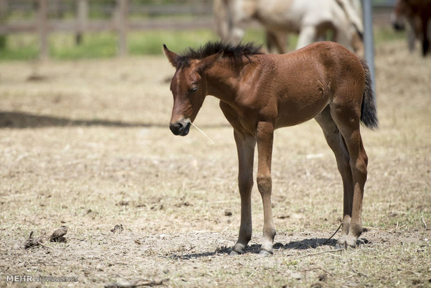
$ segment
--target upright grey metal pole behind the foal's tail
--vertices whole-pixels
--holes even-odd
[[[365,58],[370,68],[371,79],[373,79],[373,92],[375,95],[373,7],[371,0],[362,0],[362,11],[364,17]]]

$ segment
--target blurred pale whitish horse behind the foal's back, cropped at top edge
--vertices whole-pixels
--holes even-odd
[[[215,26],[222,40],[241,41],[244,29],[257,20],[266,29],[268,48],[285,52],[286,34],[298,33],[301,48],[326,38],[358,55],[364,54],[359,0],[214,0]]]

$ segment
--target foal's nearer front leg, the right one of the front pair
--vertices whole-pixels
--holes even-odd
[[[263,243],[259,254],[272,254],[275,227],[271,207],[271,157],[273,154],[274,125],[271,122],[257,124],[257,188],[263,203]]]

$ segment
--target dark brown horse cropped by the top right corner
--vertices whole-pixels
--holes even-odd
[[[396,30],[409,26],[407,41],[409,50],[414,50],[416,39],[422,42],[422,55],[426,56],[430,49],[431,31],[431,0],[398,0],[391,14],[391,22]]]

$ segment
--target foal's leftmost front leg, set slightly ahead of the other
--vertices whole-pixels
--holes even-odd
[[[252,188],[253,160],[256,139],[251,135],[234,132],[236,150],[238,151],[238,189],[241,195],[241,225],[239,237],[231,255],[243,254],[252,237]]]

